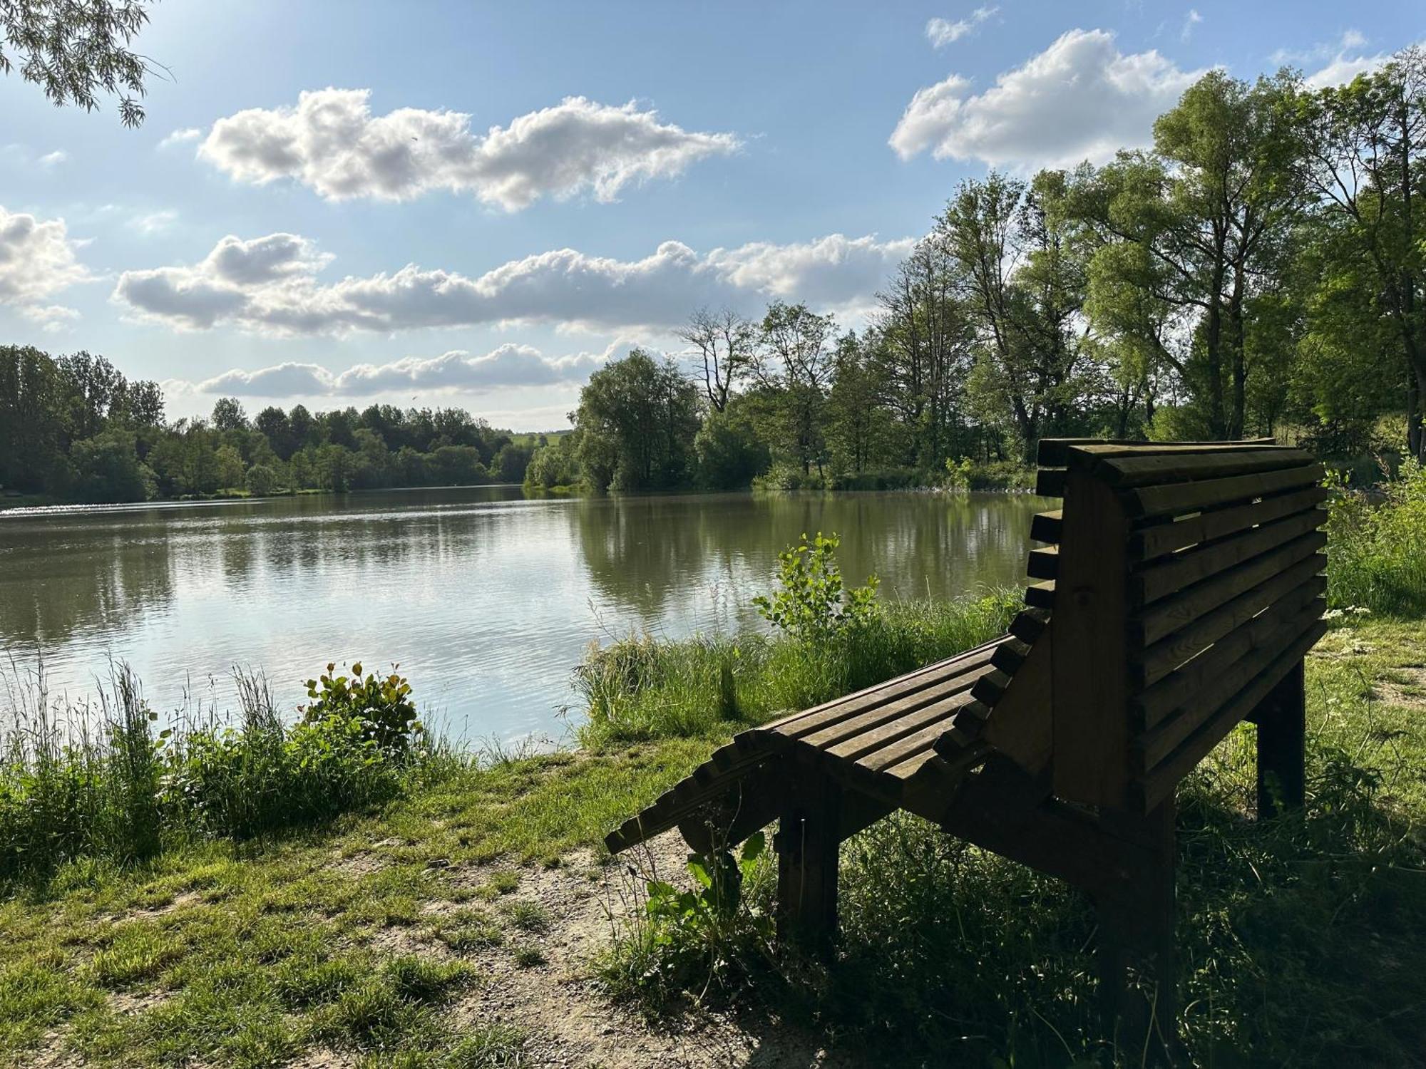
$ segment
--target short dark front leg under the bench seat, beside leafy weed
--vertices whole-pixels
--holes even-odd
[[[829,777],[809,777],[779,820],[777,939],[824,954],[837,932],[837,847],[841,791]]]

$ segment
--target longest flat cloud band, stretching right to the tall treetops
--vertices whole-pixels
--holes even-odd
[[[177,329],[231,324],[275,335],[396,332],[548,324],[562,329],[667,331],[703,305],[754,312],[769,298],[823,311],[866,309],[913,239],[831,234],[803,244],[753,242],[699,254],[665,241],[640,259],[563,248],[482,275],[415,264],[319,278],[328,257],[294,234],[227,237],[193,265],[125,271],[114,302]]]

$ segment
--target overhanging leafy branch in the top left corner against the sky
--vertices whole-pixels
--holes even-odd
[[[39,86],[56,107],[98,107],[118,95],[125,127],[144,121],[138,97],[153,74],[130,44],[148,21],[145,0],[0,0],[0,71],[20,63],[20,77]]]

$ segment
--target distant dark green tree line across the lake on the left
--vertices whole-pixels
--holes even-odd
[[[265,408],[164,422],[103,356],[0,348],[0,489],[76,502],[520,482],[530,446],[456,408]]]

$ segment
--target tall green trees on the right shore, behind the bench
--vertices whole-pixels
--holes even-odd
[[[881,485],[1055,435],[1426,459],[1423,205],[1419,48],[1322,90],[1211,71],[1151,150],[961,182],[861,332],[700,311],[692,378],[596,372],[529,482]]]

